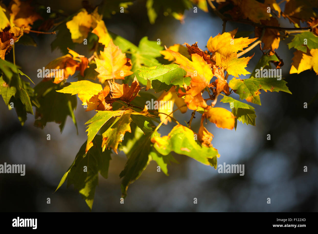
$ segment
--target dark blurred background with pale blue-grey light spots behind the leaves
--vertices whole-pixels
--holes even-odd
[[[81,8],[81,1],[38,2],[52,9],[63,9],[66,14]],[[99,1],[90,3],[95,5]],[[128,14],[117,13],[104,21],[109,31],[137,45],[142,37],[148,36],[149,40],[160,39],[162,46],[184,42],[191,45],[197,41],[205,49],[210,36],[222,31],[219,18],[199,9],[197,13],[186,11],[184,24],[159,15],[154,25],[149,23],[143,1],[135,2],[128,10]],[[292,27],[283,18],[280,25]],[[253,31],[249,25],[227,22],[226,32],[237,27],[239,31]],[[16,63],[37,84],[41,81],[37,69],[64,54],[59,49],[51,52],[55,35],[30,35],[38,47],[16,46]],[[252,34],[250,38],[253,37]],[[123,153],[112,154],[108,179],[100,176],[92,211],[318,211],[318,98],[314,98],[318,81],[314,71],[289,74],[294,52],[286,45],[290,40],[291,37],[280,42],[277,54],[285,63],[283,77],[293,95],[261,91],[262,105],[251,104],[256,110],[256,126],[238,122],[235,131],[219,129],[211,123],[206,125],[215,137],[212,144],[221,155],[218,165],[244,164],[244,176],[219,174],[212,167],[174,154],[180,164],[168,166],[169,176],[158,173],[156,162],[152,161],[129,186],[124,204],[120,204],[119,174],[127,159]],[[84,45],[77,45],[74,50],[87,57],[91,55]],[[258,46],[246,56],[253,53],[247,67],[250,72],[262,55]],[[234,93],[231,96],[239,99]],[[304,102],[308,103],[307,109]],[[217,106],[230,110],[228,103],[218,102]],[[15,111],[9,111],[0,100],[0,164],[26,165],[25,176],[0,174],[0,211],[89,211],[73,185],[66,189],[65,183],[53,192],[86,141],[84,123],[93,115],[94,111],[85,112],[78,99],[75,111],[78,135],[70,117],[62,133],[56,123],[48,123],[43,130],[34,127],[34,116],[30,114],[22,127]],[[191,111],[176,112],[175,117],[181,123],[189,121],[190,115]],[[194,131],[199,123],[199,117],[194,119]],[[166,135],[173,125],[161,127],[160,133]],[[51,140],[46,139],[47,134]],[[266,139],[267,134],[271,140]],[[308,172],[304,172],[304,166]],[[46,203],[47,198],[51,198],[51,204]],[[194,198],[197,204],[193,203]],[[271,204],[267,204],[267,198],[271,198]]]

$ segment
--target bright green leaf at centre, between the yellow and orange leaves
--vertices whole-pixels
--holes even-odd
[[[190,84],[191,78],[185,77],[186,72],[178,64],[143,67],[139,69],[139,76],[151,82],[151,89],[156,93],[168,91],[173,85],[183,87],[183,83]]]

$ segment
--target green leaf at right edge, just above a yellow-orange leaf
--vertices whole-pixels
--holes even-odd
[[[307,47],[309,50],[318,49],[318,37],[312,32],[302,32],[296,35],[292,35],[294,38],[290,43],[288,43],[288,49],[294,47],[302,52],[307,52]],[[307,41],[307,44],[304,44]]]

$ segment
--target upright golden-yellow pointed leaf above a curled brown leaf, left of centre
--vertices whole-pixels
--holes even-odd
[[[100,51],[101,59],[94,58],[96,69],[99,73],[97,76],[101,83],[111,79],[125,79],[125,76],[133,74],[131,69],[131,61],[126,58],[125,53],[121,53],[121,49],[115,46],[111,39],[104,51]]]

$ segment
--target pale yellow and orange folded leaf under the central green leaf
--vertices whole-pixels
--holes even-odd
[[[175,91],[174,87],[171,87],[169,91],[163,92],[160,97],[157,99],[161,105],[159,105],[158,112],[165,113],[171,117],[173,117],[173,105],[176,103],[176,106],[180,108],[181,113],[187,112],[188,108],[186,106],[182,107],[185,105],[185,102],[182,98],[178,97]],[[160,108],[161,106],[161,108]],[[172,114],[171,114],[172,113]],[[164,121],[164,124],[168,124],[168,121],[171,122],[171,118],[167,117],[167,115],[164,114],[159,114],[158,116],[160,117],[160,121]]]

